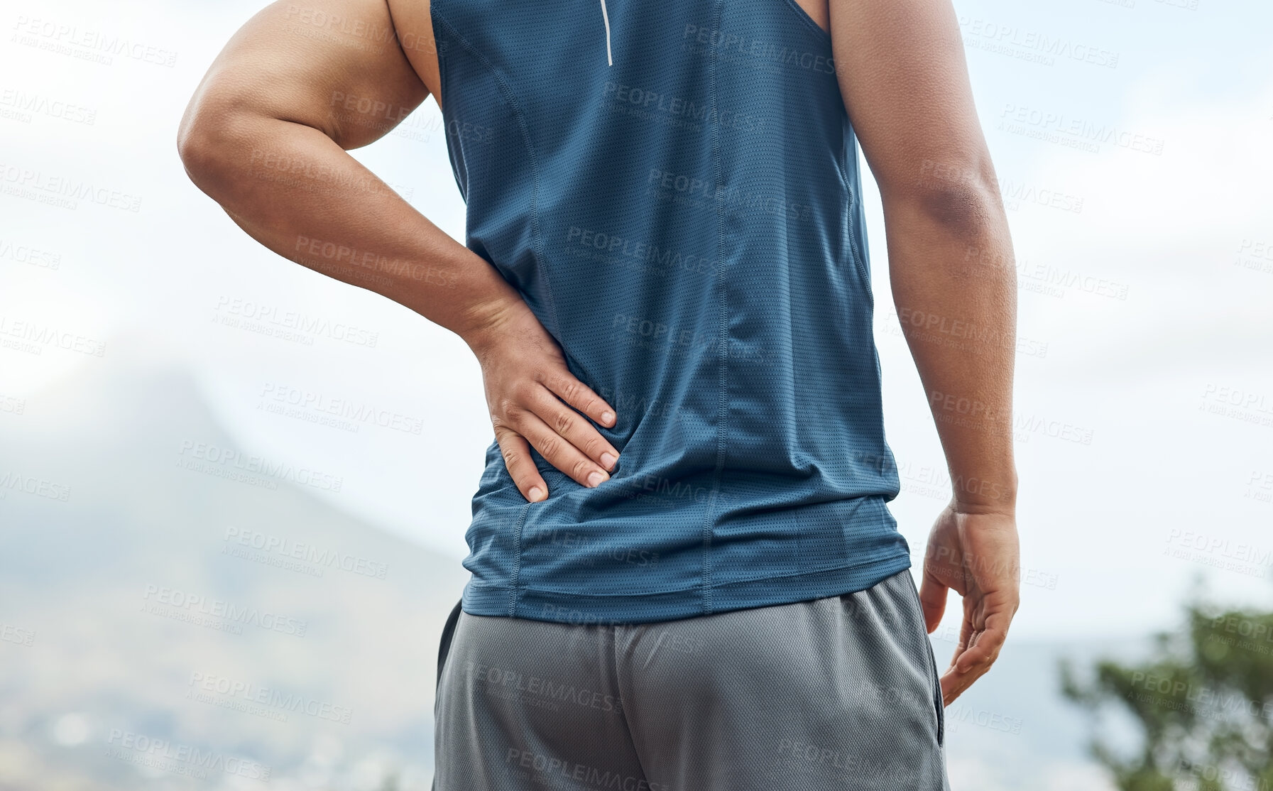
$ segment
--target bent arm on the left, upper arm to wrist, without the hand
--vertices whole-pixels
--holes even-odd
[[[191,180],[256,241],[463,338],[516,290],[345,152],[426,96],[384,0],[275,3],[207,70],[178,149]]]

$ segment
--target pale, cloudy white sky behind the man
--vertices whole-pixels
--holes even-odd
[[[39,354],[0,346],[0,410],[6,397],[38,401],[83,367],[176,362],[197,373],[238,450],[339,478],[339,493],[320,493],[334,506],[458,563],[491,438],[467,348],[378,294],[265,250],[177,158],[195,85],[258,8],[6,5],[0,338],[31,322],[75,340]],[[1018,525],[1030,578],[1015,633],[1170,625],[1195,572],[1231,600],[1268,601],[1273,11],[1256,0],[956,8],[1021,285]],[[98,62],[85,45],[98,37],[140,46]],[[439,118],[429,99],[355,155],[462,241]],[[946,478],[890,318],[878,195],[866,169],[863,178],[886,428],[903,473],[891,508],[918,563]],[[57,182],[89,183],[97,199],[50,205],[48,189],[32,189]],[[358,327],[376,344],[216,321],[241,303]],[[421,431],[353,433],[258,409],[272,394],[348,399]]]

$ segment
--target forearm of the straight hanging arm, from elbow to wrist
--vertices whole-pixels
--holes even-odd
[[[904,196],[885,218],[894,303],[955,501],[1011,511],[1016,267],[1002,201],[985,187]]]

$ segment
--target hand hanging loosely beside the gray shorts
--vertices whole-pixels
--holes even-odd
[[[929,632],[942,620],[947,590],[964,597],[959,645],[941,678],[947,706],[999,656],[1020,604],[1020,587],[1016,516],[961,513],[957,506],[947,506],[928,536],[919,587]]]

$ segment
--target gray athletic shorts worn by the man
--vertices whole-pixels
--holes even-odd
[[[948,791],[909,571],[812,601],[628,625],[461,613],[435,791]]]

